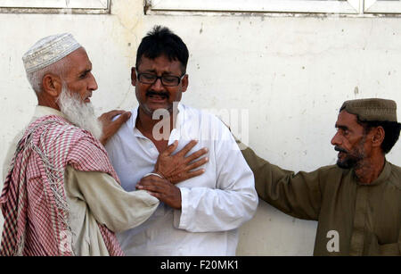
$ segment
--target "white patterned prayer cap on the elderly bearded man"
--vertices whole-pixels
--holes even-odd
[[[45,37],[22,56],[27,73],[39,71],[81,47],[70,33]]]

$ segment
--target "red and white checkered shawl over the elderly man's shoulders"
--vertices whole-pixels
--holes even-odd
[[[74,255],[64,189],[67,165],[106,172],[119,182],[103,146],[86,130],[55,115],[29,124],[0,197],[0,255]],[[110,255],[122,255],[114,234],[98,225]]]

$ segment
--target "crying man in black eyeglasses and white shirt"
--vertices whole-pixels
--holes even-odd
[[[188,87],[188,56],[167,28],[143,38],[131,71],[139,106],[106,145],[122,187],[144,189],[162,202],[143,225],[118,235],[127,255],[235,255],[238,228],[258,206],[253,174],[230,131],[215,116],[179,103]],[[157,158],[168,145],[179,150],[193,139],[193,151],[209,150],[204,169],[192,171],[200,176],[182,181],[179,170],[168,178],[153,171],[164,165]]]

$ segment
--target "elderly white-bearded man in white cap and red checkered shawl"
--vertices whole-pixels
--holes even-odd
[[[22,60],[38,105],[4,162],[0,255],[122,255],[114,232],[143,223],[160,203],[143,190],[123,190],[102,146],[129,112],[104,114],[102,130],[90,104],[92,63],[70,34],[39,40]],[[153,172],[165,174],[170,161],[182,179],[200,174],[191,170],[205,160],[187,169],[205,153],[185,157],[193,145],[177,156],[176,144],[169,146]]]

